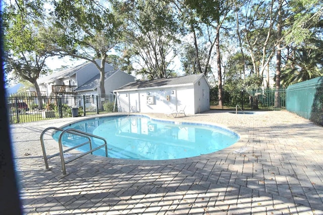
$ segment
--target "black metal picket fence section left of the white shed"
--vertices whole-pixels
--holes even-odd
[[[111,113],[114,111],[114,101],[114,95],[63,94],[36,97],[15,94],[7,97],[7,107],[9,122],[13,124]]]

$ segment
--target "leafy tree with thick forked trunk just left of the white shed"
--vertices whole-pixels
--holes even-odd
[[[61,56],[92,62],[100,72],[100,92],[105,94],[104,67],[112,50],[122,39],[122,22],[109,5],[92,0],[54,1],[52,27],[48,35]],[[100,58],[100,64],[95,59]]]

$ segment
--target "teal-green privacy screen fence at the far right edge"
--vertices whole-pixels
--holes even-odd
[[[318,125],[323,125],[323,77],[287,88],[286,109]]]

